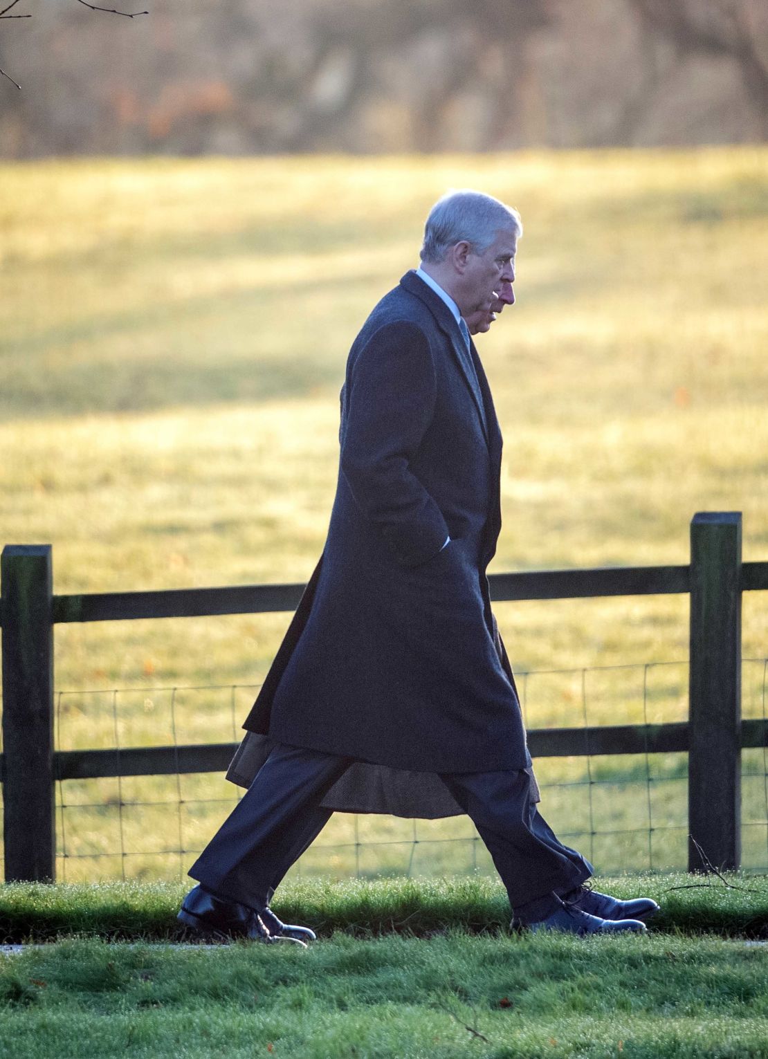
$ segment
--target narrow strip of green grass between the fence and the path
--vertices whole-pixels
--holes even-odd
[[[768,877],[684,873],[595,880],[618,897],[653,897],[661,912],[655,931],[717,933],[768,938]],[[179,939],[176,913],[193,883],[8,883],[0,890],[0,944],[48,941],[72,934],[112,940]],[[501,883],[461,879],[376,879],[332,882],[300,879],[281,886],[274,909],[320,935],[344,931],[357,937],[387,933],[431,936],[461,929],[504,931],[510,905]]]

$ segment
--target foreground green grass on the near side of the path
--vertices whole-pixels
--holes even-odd
[[[35,1059],[743,1059],[768,1054],[767,987],[764,951],[715,938],[72,940],[0,957],[0,1044]]]

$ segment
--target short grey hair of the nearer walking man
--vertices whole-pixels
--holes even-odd
[[[457,243],[468,243],[474,253],[488,249],[501,229],[522,235],[520,214],[482,192],[450,191],[437,199],[424,226],[421,257],[425,263],[445,261]]]

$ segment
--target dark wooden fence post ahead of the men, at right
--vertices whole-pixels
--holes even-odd
[[[691,523],[689,870],[742,858],[742,514]]]

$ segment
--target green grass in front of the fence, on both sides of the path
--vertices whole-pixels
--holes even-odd
[[[178,884],[6,886],[0,940],[53,944],[0,955],[0,1047],[19,1059],[765,1057],[766,943],[745,935],[765,936],[768,881],[708,881],[604,879],[662,912],[647,936],[589,939],[511,934],[502,887],[482,880],[293,883],[279,911],[320,934],[299,952],[158,945],[178,940]]]

